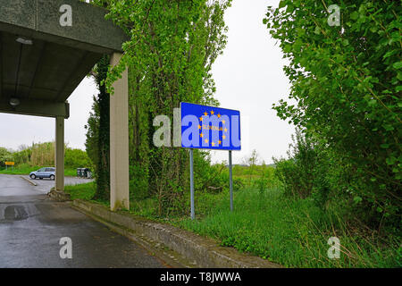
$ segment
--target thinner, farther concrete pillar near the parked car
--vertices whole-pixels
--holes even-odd
[[[64,190],[64,117],[55,118],[55,183],[54,189]]]

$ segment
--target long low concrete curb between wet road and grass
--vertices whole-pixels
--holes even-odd
[[[260,257],[241,254],[234,248],[220,247],[215,240],[201,237],[193,232],[184,231],[169,224],[156,223],[123,212],[112,212],[105,206],[81,199],[74,200],[72,206],[85,214],[89,214],[99,222],[105,223],[131,240],[139,241],[145,248],[152,245],[162,246],[163,249],[168,251],[168,257],[171,257],[181,267],[282,267]],[[166,248],[169,248],[169,250]],[[166,262],[169,263],[169,261]]]

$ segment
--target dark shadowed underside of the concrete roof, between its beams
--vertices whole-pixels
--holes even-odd
[[[0,97],[64,102],[102,56],[0,31]]]

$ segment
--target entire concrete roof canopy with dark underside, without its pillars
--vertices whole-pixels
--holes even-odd
[[[60,25],[63,4],[71,5],[71,27]],[[105,10],[78,0],[0,0],[0,7],[0,112],[67,118],[67,98],[126,40]]]

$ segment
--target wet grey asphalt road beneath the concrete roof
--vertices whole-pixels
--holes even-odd
[[[0,174],[0,268],[167,266],[69,203],[47,198],[54,181],[35,182],[36,187],[20,176]],[[64,237],[71,239],[72,258],[60,256]]]

